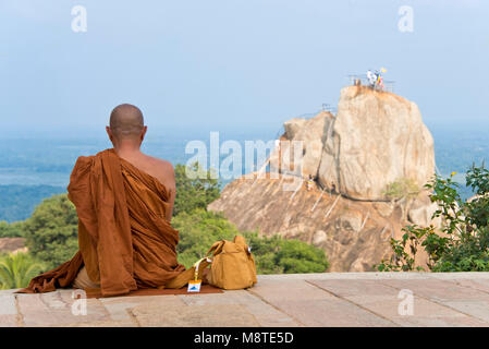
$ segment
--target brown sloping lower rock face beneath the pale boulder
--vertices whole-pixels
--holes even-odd
[[[330,272],[374,270],[374,264],[390,255],[390,238],[401,238],[401,209],[395,205],[384,203],[392,205],[384,217],[386,209],[372,202],[330,195],[318,186],[303,186],[294,195],[284,190],[289,180],[235,180],[208,209],[222,212],[240,230],[279,233],[325,250]]]

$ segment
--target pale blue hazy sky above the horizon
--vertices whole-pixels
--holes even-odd
[[[76,4],[87,33],[71,29]],[[413,33],[398,29],[401,5]],[[120,103],[159,133],[279,129],[380,67],[428,124],[479,124],[488,19],[485,0],[0,0],[0,133],[102,130]]]

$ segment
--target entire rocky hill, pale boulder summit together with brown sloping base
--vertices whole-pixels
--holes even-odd
[[[334,272],[371,270],[392,253],[389,240],[399,239],[403,226],[431,222],[436,205],[426,192],[396,203],[387,195],[392,183],[420,189],[435,173],[433,140],[414,103],[350,86],[341,92],[337,116],[292,119],[284,130],[281,141],[302,145],[298,155],[293,142],[276,147],[270,171],[279,179],[235,180],[209,209],[223,212],[240,229],[320,246]],[[314,190],[284,190],[291,177],[309,176]]]

